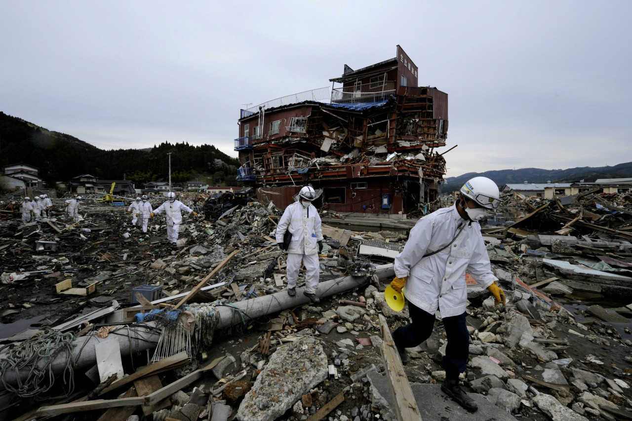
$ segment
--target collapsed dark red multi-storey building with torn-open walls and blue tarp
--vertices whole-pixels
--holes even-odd
[[[331,88],[241,109],[238,181],[281,208],[311,183],[322,188],[325,210],[434,209],[446,173],[437,148],[446,145],[447,94],[418,87],[417,78],[397,46],[386,61],[358,70],[345,64]]]

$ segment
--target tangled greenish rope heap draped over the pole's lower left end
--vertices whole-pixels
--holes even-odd
[[[72,360],[72,342],[74,339],[75,336],[72,333],[61,333],[51,329],[22,343],[9,345],[4,358],[0,360],[0,376],[4,388],[20,398],[45,393],[51,389],[55,381],[52,362],[65,352],[66,368],[62,378],[64,384],[68,384],[66,396],[71,394],[75,388]],[[15,373],[17,387],[11,386],[6,381],[8,372]],[[22,379],[23,373],[28,373],[24,380]]]

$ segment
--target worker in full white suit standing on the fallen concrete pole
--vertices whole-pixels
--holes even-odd
[[[279,220],[276,241],[281,250],[288,252],[288,295],[296,295],[296,279],[298,279],[302,260],[307,272],[303,294],[311,302],[319,303],[320,298],[316,296],[316,289],[320,275],[318,253],[322,250],[322,226],[318,210],[312,205],[315,198],[316,192],[312,186],[301,188],[298,193],[298,202],[286,207]],[[286,231],[292,235],[287,250],[283,244]]]

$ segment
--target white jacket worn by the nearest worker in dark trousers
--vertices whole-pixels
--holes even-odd
[[[461,223],[465,228],[450,247],[422,259],[447,245]],[[498,280],[492,273],[480,224],[461,218],[456,205],[436,210],[416,223],[404,250],[395,258],[394,270],[398,278],[408,276],[403,289],[406,299],[430,314],[439,308],[441,317],[465,312],[466,270],[482,288]]]

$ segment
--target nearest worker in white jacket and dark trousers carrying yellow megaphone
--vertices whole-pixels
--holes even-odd
[[[432,212],[411,229],[404,250],[395,258],[396,278],[391,282],[391,287],[406,297],[412,320],[392,333],[402,363],[408,362],[405,348],[414,348],[430,337],[439,308],[447,336],[443,358],[446,381],[441,390],[470,412],[478,406],[459,387],[470,341],[465,321],[465,272],[492,293],[495,304],[505,305],[478,223],[486,210],[496,209],[500,202],[494,181],[486,177],[467,181],[452,207]]]

